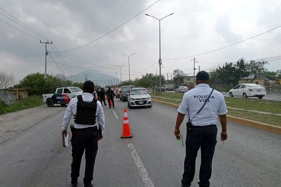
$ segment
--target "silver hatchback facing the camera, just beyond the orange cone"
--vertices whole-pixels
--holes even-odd
[[[152,107],[152,100],[150,95],[151,92],[148,92],[145,88],[131,88],[128,96],[128,108],[137,107],[137,106],[147,106],[148,108]]]

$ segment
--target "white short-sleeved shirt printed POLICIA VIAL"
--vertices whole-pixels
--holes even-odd
[[[187,117],[189,112],[191,120],[204,105],[211,91],[212,88],[208,84],[198,84],[194,89],[184,94],[178,112],[186,114]],[[214,90],[204,108],[192,120],[192,124],[196,126],[216,125],[217,114],[224,115],[227,112],[224,96],[219,91]]]

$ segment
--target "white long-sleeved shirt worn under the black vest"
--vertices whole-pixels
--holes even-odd
[[[82,99],[83,101],[86,102],[91,102],[93,100],[94,96],[91,93],[82,93]],[[77,97],[73,98],[70,100],[66,111],[64,113],[64,119],[62,122],[62,127],[61,130],[65,131],[68,128],[69,122],[71,120],[71,116],[72,115],[76,115],[76,110],[77,110]],[[87,127],[95,127],[97,126],[97,124],[100,124],[102,127],[102,134],[104,134],[104,112],[103,112],[103,108],[102,108],[102,104],[100,103],[100,101],[97,101],[97,111],[96,111],[96,124],[95,125],[84,125],[84,124],[77,124],[74,123],[73,126],[76,129],[82,129],[82,128],[87,128]],[[97,127],[98,128],[98,127]]]

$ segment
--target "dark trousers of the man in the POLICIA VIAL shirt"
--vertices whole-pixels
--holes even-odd
[[[184,159],[184,174],[181,183],[190,186],[195,174],[195,160],[201,148],[201,166],[199,171],[199,186],[210,186],[212,160],[217,143],[217,126],[192,126],[186,134],[186,156]]]

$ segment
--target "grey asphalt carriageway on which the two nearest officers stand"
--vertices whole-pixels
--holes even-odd
[[[106,130],[99,142],[94,186],[179,187],[185,148],[177,146],[173,134],[175,108],[154,103],[152,108],[127,109],[133,138],[121,139],[127,103],[115,102],[115,109],[104,108]],[[71,148],[61,144],[63,115],[64,110],[58,110],[0,143],[0,186],[71,186]],[[181,132],[186,135],[184,125]],[[217,137],[211,186],[281,186],[281,135],[232,123],[228,135],[224,145]],[[198,186],[199,164],[200,151],[191,187]],[[83,186],[84,169],[83,158],[78,186]]]

